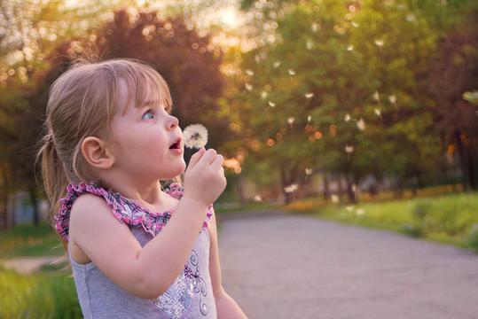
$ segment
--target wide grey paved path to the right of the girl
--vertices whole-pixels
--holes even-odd
[[[306,216],[221,216],[225,290],[249,318],[476,319],[478,255]]]

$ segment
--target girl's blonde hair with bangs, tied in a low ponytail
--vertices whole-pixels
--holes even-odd
[[[99,181],[82,156],[87,136],[111,136],[111,122],[118,113],[118,84],[128,86],[128,101],[143,105],[149,88],[158,95],[168,113],[172,99],[167,82],[152,66],[132,58],[114,58],[92,63],[77,60],[53,82],[46,107],[45,128],[36,160],[42,158],[43,187],[51,203],[51,222],[68,183]],[[125,113],[127,110],[123,111]],[[181,183],[179,176],[176,182]],[[66,247],[65,243],[64,246]]]

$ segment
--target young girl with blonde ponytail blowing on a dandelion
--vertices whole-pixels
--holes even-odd
[[[202,148],[185,169],[171,107],[133,59],[79,62],[51,86],[38,155],[85,318],[246,318],[221,284],[223,156]]]

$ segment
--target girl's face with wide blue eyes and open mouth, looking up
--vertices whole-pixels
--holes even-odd
[[[177,118],[165,110],[166,105],[160,105],[151,90],[145,98],[150,101],[147,105],[137,107],[134,98],[126,105],[128,87],[121,80],[118,97],[119,112],[112,122],[116,167],[129,177],[152,182],[182,174],[186,167],[184,142],[176,150],[169,148],[183,135]]]

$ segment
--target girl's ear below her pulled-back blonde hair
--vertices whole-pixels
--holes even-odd
[[[95,168],[109,169],[115,162],[113,153],[106,147],[106,142],[96,136],[87,136],[83,139],[82,155]]]

